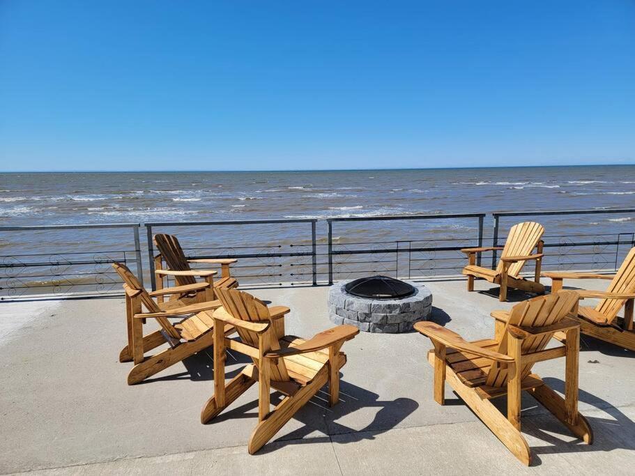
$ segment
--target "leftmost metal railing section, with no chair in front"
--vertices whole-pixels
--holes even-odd
[[[87,239],[86,236],[81,236],[84,232],[97,244],[99,235],[109,229],[131,229],[132,249],[112,249],[112,245],[103,243],[100,249],[77,250],[77,246]],[[47,248],[41,251],[32,244],[33,234],[38,231],[43,232],[38,240],[39,247]],[[70,231],[73,233],[72,236],[66,233]],[[93,233],[95,231],[99,233]],[[100,293],[109,289],[119,291],[121,283],[111,266],[114,261],[135,263],[137,275],[143,284],[138,223],[0,227],[0,236],[3,240],[6,239],[6,233],[12,233],[12,236],[29,233],[31,236],[26,239],[22,236],[23,239],[18,240],[31,243],[29,247],[35,249],[31,252],[0,255],[0,300],[6,297],[21,297],[24,294]],[[60,233],[63,236],[60,236]],[[61,248],[52,251],[56,245]]]

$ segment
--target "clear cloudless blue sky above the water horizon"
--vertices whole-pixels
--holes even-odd
[[[635,1],[0,0],[0,169],[635,162]]]

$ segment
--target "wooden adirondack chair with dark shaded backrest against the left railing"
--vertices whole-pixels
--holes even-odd
[[[210,284],[208,289],[207,300],[214,300],[215,288],[235,288],[238,286],[238,280],[231,277],[229,266],[238,261],[237,259],[187,259],[181,244],[174,235],[158,233],[154,236],[154,243],[160,254],[154,257],[155,274],[157,279],[157,289],[164,286],[163,279],[168,276],[174,276],[174,280],[179,286],[196,283],[195,277],[202,277]],[[163,266],[163,263],[167,267]],[[190,268],[190,263],[207,263],[220,264],[221,277],[214,281],[213,276],[217,274],[215,270],[201,270]]]

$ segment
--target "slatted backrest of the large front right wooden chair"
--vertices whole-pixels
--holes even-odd
[[[538,296],[515,305],[510,312],[510,318],[505,325],[505,332],[498,343],[498,352],[507,354],[509,337],[507,328],[510,325],[522,328],[539,328],[558,323],[568,314],[575,311],[578,294],[575,291],[558,291],[546,296]],[[521,354],[526,355],[542,351],[554,332],[545,335],[526,337],[523,339]],[[523,365],[521,376],[525,378],[531,372],[533,364]],[[507,384],[507,367],[501,367],[498,362],[492,364],[487,374],[487,385],[503,387]]]

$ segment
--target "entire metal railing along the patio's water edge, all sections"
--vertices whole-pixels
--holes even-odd
[[[588,215],[615,214],[633,217],[610,218],[611,224],[583,220]],[[508,228],[519,221],[512,219],[519,217],[543,217],[540,222],[548,231],[544,236],[544,269],[616,269],[623,255],[635,246],[631,224],[635,221],[629,221],[635,220],[635,208],[491,215],[493,227],[487,229],[485,213],[330,218],[324,220],[326,236],[318,236],[316,219],[0,227],[0,249],[5,250],[0,254],[0,299],[78,290],[119,291],[119,279],[110,267],[113,261],[135,266],[142,281],[146,270],[145,277],[155,289],[152,238],[153,233],[165,229],[181,238],[190,259],[239,259],[232,275],[250,286],[316,285],[370,272],[395,277],[457,274],[466,262],[461,248],[480,247],[490,239],[495,247],[503,245]],[[611,227],[608,232],[607,224]],[[565,231],[549,234],[555,225]],[[139,240],[141,226],[146,227],[145,251]],[[423,229],[418,231],[418,227]],[[573,231],[566,233],[567,227]],[[122,229],[132,230],[130,241],[122,236]],[[491,236],[484,233],[488,230]],[[340,235],[337,238],[335,231]],[[481,256],[478,259],[480,264]],[[492,268],[497,262],[494,251]],[[531,266],[528,263],[528,268]]]

